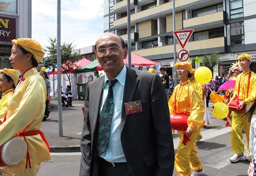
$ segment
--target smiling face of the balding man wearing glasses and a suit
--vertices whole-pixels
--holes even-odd
[[[122,48],[119,36],[112,33],[105,33],[97,40],[96,49],[99,51],[99,49],[110,47],[120,48],[119,53],[113,55],[109,50],[106,50],[105,55],[102,57],[98,56],[98,52],[96,52],[96,57],[106,73],[120,72],[124,65],[123,59],[127,56],[127,48]]]

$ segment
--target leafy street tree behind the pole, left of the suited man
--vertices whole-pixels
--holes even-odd
[[[46,55],[41,62],[40,66],[48,67],[51,68],[52,71],[55,70],[57,67],[57,38],[56,37],[49,37],[48,38],[49,45],[45,47]],[[70,74],[75,73],[74,72],[74,67],[76,67],[75,62],[80,58],[79,53],[75,49],[75,46],[73,45],[73,42],[67,43],[64,42],[61,44],[61,69],[64,70],[66,73],[68,79],[69,79],[69,84],[71,85],[71,78]]]

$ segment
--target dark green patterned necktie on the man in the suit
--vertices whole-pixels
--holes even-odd
[[[98,155],[104,153],[109,147],[110,127],[114,109],[114,94],[112,87],[115,85],[116,82],[117,79],[106,81],[106,83],[108,83],[109,85],[109,92],[108,96],[106,96],[99,116],[99,130],[97,140]]]

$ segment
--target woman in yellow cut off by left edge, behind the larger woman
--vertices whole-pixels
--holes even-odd
[[[0,100],[0,124],[3,123],[7,109],[7,102],[12,97],[13,90],[15,89],[17,83],[17,70],[7,68],[0,70],[0,91],[3,92]]]

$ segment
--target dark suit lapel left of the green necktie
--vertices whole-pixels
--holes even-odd
[[[96,87],[93,87],[93,93],[92,93],[92,97],[93,97],[93,111],[94,111],[94,116],[93,116],[93,128],[92,128],[92,133],[95,133],[95,130],[97,129],[96,125],[97,125],[97,121],[98,121],[98,117],[99,117],[99,109],[100,109],[100,99],[101,99],[101,95],[102,95],[102,91],[103,91],[103,85],[104,85],[104,77],[100,77],[98,78],[99,82],[98,85]],[[97,133],[97,131],[96,131]]]

